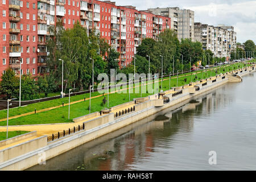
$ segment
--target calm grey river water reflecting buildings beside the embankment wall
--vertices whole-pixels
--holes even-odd
[[[255,83],[250,73],[28,170],[255,170]]]

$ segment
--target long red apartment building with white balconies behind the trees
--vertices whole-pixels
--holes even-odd
[[[0,75],[9,67],[19,74],[19,61],[22,74],[48,72],[48,29],[58,19],[65,28],[72,28],[79,20],[88,33],[95,29],[121,53],[121,68],[131,63],[142,39],[156,39],[161,31],[171,28],[171,19],[166,16],[110,1],[0,0]]]

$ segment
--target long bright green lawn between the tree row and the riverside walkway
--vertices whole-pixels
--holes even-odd
[[[223,68],[217,69],[217,74],[224,73],[224,72],[229,72],[232,71],[233,69],[238,69],[238,67],[242,68],[242,64],[241,63],[236,63],[233,65],[224,65],[225,66],[225,71],[223,71]],[[224,67],[222,66],[222,67]],[[244,64],[243,64],[244,67]],[[220,68],[220,67],[217,67]],[[212,68],[211,68],[212,69]],[[189,82],[195,82],[197,80],[200,80],[202,78],[208,78],[210,76],[215,76],[216,75],[216,70],[204,70],[207,72],[203,72],[202,71],[195,71],[195,72],[191,72],[191,73],[185,73],[183,75],[179,75],[178,78],[178,86],[182,86],[185,84],[189,84]],[[191,75],[193,73],[196,73],[195,75]],[[185,75],[185,76],[184,76]],[[197,78],[196,78],[197,76]],[[176,76],[172,76],[171,78],[171,87],[176,86],[176,78],[174,78]],[[187,78],[187,81],[184,80],[184,78]],[[160,80],[161,78],[159,78]],[[168,79],[165,78],[165,79]],[[159,87],[161,86],[161,81],[159,82]],[[117,90],[119,89],[119,87],[117,87]],[[122,89],[122,87],[121,87]],[[169,89],[169,79],[166,81],[163,81],[163,88],[159,88],[159,90],[168,90]],[[150,95],[151,93],[144,93],[143,97]],[[98,92],[94,92],[92,93],[92,97],[93,96],[98,96],[100,95],[100,93]],[[106,99],[108,94],[105,94]],[[82,100],[84,99],[84,97],[89,98],[89,93],[86,94],[81,94],[79,96],[72,96],[71,97],[71,102],[72,101],[77,101],[77,100]],[[131,98],[136,98],[136,97],[141,97],[141,94],[131,94]],[[100,111],[101,109],[107,107],[107,104],[105,106],[101,106],[101,102],[102,99],[104,97],[99,97],[99,98],[94,98],[92,99],[92,108],[91,108],[91,113],[93,113],[94,111]],[[124,100],[123,100],[123,99]],[[111,106],[115,106],[118,104],[123,104],[124,102],[129,101],[129,94],[110,94],[109,95],[109,107]],[[14,116],[14,115],[19,115],[19,114],[23,114],[23,113],[28,113],[31,111],[34,111],[34,109],[36,110],[40,110],[40,109],[45,109],[48,107],[53,107],[53,106],[59,106],[62,105],[62,102],[64,102],[64,104],[68,103],[68,95],[66,95],[65,98],[59,98],[56,100],[51,100],[51,101],[45,101],[45,102],[38,102],[35,104],[30,104],[27,106],[23,106],[23,107],[16,107],[13,109],[9,109],[9,117]],[[70,118],[76,118],[79,117],[81,115],[85,115],[85,114],[89,114],[89,100],[85,101],[85,102],[80,102],[78,104],[73,104],[71,105],[71,117]],[[2,118],[6,118],[7,117],[7,110],[1,110],[0,111],[0,119]],[[71,121],[71,120],[70,120]],[[27,124],[35,124],[35,123],[57,123],[57,122],[70,122],[68,121],[68,106],[65,107],[59,107],[57,109],[53,109],[53,110],[49,110],[43,113],[37,113],[37,114],[31,114],[31,115],[27,115],[24,117],[20,117],[20,118],[15,118],[15,119],[11,119],[10,120],[10,125],[27,125]],[[5,126],[6,122],[0,122],[0,125]]]

